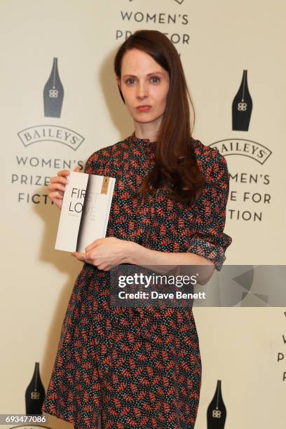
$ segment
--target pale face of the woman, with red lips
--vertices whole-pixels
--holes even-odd
[[[130,49],[121,62],[121,79],[116,77],[125,105],[139,123],[160,125],[169,90],[169,74],[150,55]]]

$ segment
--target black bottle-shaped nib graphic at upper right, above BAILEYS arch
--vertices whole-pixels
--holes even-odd
[[[233,130],[248,131],[252,112],[252,98],[247,86],[247,70],[243,70],[243,79],[232,104]]]

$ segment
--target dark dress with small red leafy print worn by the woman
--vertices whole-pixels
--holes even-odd
[[[154,163],[156,143],[135,132],[88,158],[85,171],[116,178],[107,236],[160,252],[193,252],[220,270],[231,237],[224,231],[229,172],[217,149],[193,139],[208,182],[191,207],[165,191],[136,191]],[[201,361],[190,307],[114,308],[110,271],[84,264],[62,325],[42,410],[75,428],[184,428],[196,422]]]

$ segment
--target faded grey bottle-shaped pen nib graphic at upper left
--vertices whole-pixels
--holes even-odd
[[[45,88],[43,88],[43,109],[45,116],[60,118],[63,99],[64,87],[62,86],[59,71],[57,70],[57,58],[54,58],[50,77]]]

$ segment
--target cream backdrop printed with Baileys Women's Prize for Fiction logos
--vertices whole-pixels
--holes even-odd
[[[226,156],[225,264],[285,264],[285,12],[283,0],[0,1],[1,414],[25,414],[35,362],[48,386],[81,263],[54,250],[59,212],[46,184],[132,133],[112,62],[135,30],[175,43],[194,137]],[[62,102],[51,116],[44,90],[57,73]],[[217,380],[226,428],[285,428],[285,311],[194,308],[203,362],[196,428],[207,427]],[[51,416],[48,426],[71,427]]]

